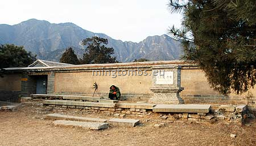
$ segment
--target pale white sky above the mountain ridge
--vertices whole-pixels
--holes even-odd
[[[50,23],[72,22],[81,28],[104,33],[113,39],[139,42],[147,36],[167,34],[181,25],[180,14],[171,14],[168,0],[3,0],[0,24],[28,19]]]

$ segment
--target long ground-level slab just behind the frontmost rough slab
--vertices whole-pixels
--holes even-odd
[[[48,114],[46,115],[46,119],[52,120],[76,120],[81,122],[101,122],[106,123],[107,119],[100,119],[100,118],[86,118],[81,116],[71,116],[71,115],[61,115],[61,114]]]

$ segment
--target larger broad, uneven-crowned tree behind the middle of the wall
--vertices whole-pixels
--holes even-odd
[[[108,39],[93,36],[82,40],[82,45],[86,45],[85,53],[81,64],[104,64],[114,63],[116,57],[113,57],[114,49],[106,47]]]

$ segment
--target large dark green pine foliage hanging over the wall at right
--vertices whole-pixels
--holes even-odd
[[[221,94],[243,93],[256,83],[256,1],[170,1],[183,14],[182,28],[170,34],[182,39],[184,59],[195,61],[210,86]],[[191,45],[191,41],[193,44]]]

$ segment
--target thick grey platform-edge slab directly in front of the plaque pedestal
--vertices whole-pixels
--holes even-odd
[[[156,105],[153,112],[200,112],[208,113],[210,105]]]

